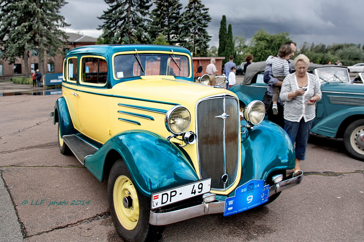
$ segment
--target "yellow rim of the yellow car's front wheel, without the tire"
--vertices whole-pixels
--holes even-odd
[[[123,199],[129,203],[126,207]],[[139,202],[137,190],[126,176],[119,176],[114,184],[114,208],[121,225],[127,229],[134,229],[139,220]]]

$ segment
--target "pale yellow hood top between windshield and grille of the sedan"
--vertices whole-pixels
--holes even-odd
[[[152,102],[169,102],[188,106],[194,106],[201,98],[222,93],[236,97],[234,93],[223,88],[214,88],[213,86],[201,85],[196,82],[174,79],[174,77],[154,76],[142,78],[116,84],[112,88],[114,90],[113,94],[115,96],[128,96]]]

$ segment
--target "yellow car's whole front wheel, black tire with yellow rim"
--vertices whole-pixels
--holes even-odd
[[[112,221],[126,242],[159,240],[164,226],[149,224],[150,200],[133,185],[122,159],[112,166],[107,185],[107,197]],[[125,206],[123,198],[127,199]]]

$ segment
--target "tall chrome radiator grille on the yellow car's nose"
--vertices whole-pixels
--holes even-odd
[[[237,99],[210,97],[198,102],[196,134],[201,178],[212,178],[211,189],[226,190],[234,183],[238,172],[240,117]],[[226,183],[222,181],[225,174],[228,176]]]

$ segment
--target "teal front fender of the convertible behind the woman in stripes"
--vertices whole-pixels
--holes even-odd
[[[348,117],[354,115],[364,115],[364,107],[352,107],[348,109],[343,109],[338,112],[335,112],[324,119],[317,122],[314,122],[314,125],[311,129],[312,133],[324,135],[327,137],[335,137],[337,130],[341,123]],[[316,120],[318,120],[316,118]]]

